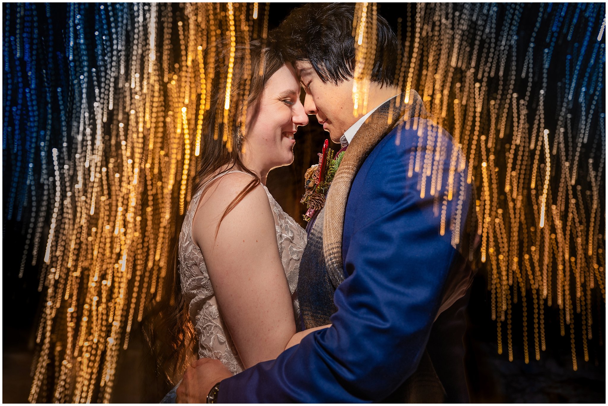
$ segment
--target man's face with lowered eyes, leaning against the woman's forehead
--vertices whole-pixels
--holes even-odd
[[[353,115],[353,81],[345,80],[337,85],[323,83],[306,61],[297,61],[295,69],[306,92],[306,114],[316,115],[319,124],[330,133],[331,140],[340,143],[340,137],[359,119]]]

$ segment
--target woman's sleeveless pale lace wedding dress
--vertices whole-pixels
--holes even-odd
[[[241,172],[226,171],[213,177],[192,196],[188,212],[184,218],[182,231],[179,235],[179,275],[182,283],[182,294],[188,303],[190,318],[198,335],[198,356],[220,360],[233,374],[244,370],[243,363],[238,357],[237,349],[230,339],[230,334],[221,317],[221,309],[209,280],[209,273],[202,257],[201,249],[192,240],[192,221],[198,207],[199,199],[207,184],[225,174]],[[243,172],[244,173],[244,172]],[[306,246],[306,232],[294,221],[272,197],[264,186],[268,201],[274,216],[277,231],[278,255],[285,269],[285,277],[289,284],[294,317],[299,318],[299,305],[295,288],[298,284],[298,272],[302,252]],[[165,396],[163,403],[174,402],[175,390]]]

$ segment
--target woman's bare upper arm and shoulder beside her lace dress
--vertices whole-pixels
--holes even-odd
[[[221,315],[246,368],[275,359],[295,334],[274,217],[261,185],[224,218],[215,238],[224,210],[250,180],[247,174],[232,173],[211,185],[192,227]]]

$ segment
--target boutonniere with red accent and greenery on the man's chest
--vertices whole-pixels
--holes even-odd
[[[329,140],[325,140],[323,152],[319,154],[319,163],[308,168],[304,175],[305,193],[300,203],[306,204],[308,208],[304,215],[306,221],[310,221],[325,205],[325,196],[344,157],[344,151],[335,154],[328,146]]]

